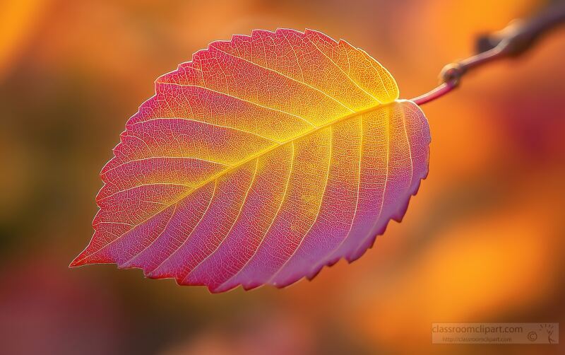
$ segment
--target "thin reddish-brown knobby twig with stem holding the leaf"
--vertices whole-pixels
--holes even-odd
[[[472,57],[447,64],[439,74],[439,86],[412,98],[417,105],[429,103],[456,88],[461,77],[471,69],[498,59],[518,57],[533,47],[534,43],[557,25],[565,23],[565,3],[559,1],[548,6],[528,22],[513,21],[504,30],[477,41],[477,52]]]

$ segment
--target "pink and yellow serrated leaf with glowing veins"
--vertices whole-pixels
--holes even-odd
[[[71,266],[213,292],[311,279],[402,219],[428,145],[420,108],[344,40],[279,29],[213,42],[127,122]]]

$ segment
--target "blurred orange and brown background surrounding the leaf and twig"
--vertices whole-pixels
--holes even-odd
[[[357,262],[283,290],[215,295],[114,265],[68,269],[126,120],[157,76],[208,42],[321,30],[367,50],[412,98],[478,35],[545,5],[1,0],[0,353],[563,354],[432,345],[431,325],[565,326],[565,28],[424,105],[429,176]]]

